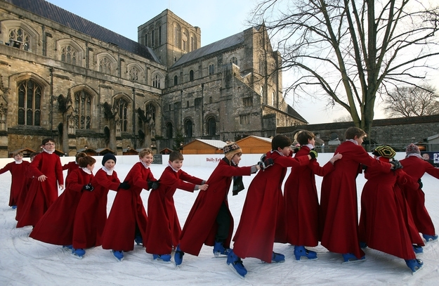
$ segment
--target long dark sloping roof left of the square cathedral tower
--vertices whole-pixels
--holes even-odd
[[[150,51],[150,48],[138,44],[129,38],[112,32],[105,27],[95,24],[89,20],[79,17],[63,8],[55,6],[44,0],[6,0],[6,2],[18,6],[31,13],[37,14],[41,17],[58,22],[60,25],[70,27],[73,30],[89,35],[90,37],[105,41],[110,44],[119,46],[119,48],[134,53],[148,60],[159,63],[157,57]]]

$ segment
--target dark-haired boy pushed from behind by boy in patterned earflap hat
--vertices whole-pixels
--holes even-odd
[[[282,182],[287,167],[304,166],[317,157],[314,150],[306,156],[291,157],[291,139],[284,135],[275,136],[271,146],[266,160],[273,160],[273,167],[258,172],[251,181],[233,238],[235,243],[227,258],[227,264],[242,277],[247,274],[247,269],[241,259],[246,257],[255,257],[266,263],[285,261],[283,254],[273,252],[274,242],[287,242]]]

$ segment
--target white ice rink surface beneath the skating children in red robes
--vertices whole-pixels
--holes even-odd
[[[319,157],[320,160],[320,157]],[[98,160],[95,173],[98,169]],[[324,164],[325,162],[320,162]],[[119,178],[124,178],[132,164],[117,164]],[[166,165],[152,165],[152,172],[159,178]],[[193,176],[207,179],[214,167],[185,167],[183,170]],[[249,186],[251,177],[244,177]],[[152,255],[136,246],[118,262],[109,250],[96,247],[87,249],[84,259],[76,259],[60,246],[48,245],[29,238],[30,226],[15,228],[15,211],[8,207],[11,176],[0,176],[0,285],[438,285],[439,242],[428,242],[424,254],[418,256],[424,261],[424,268],[412,275],[402,259],[365,249],[366,261],[341,264],[340,254],[328,252],[325,247],[310,247],[317,252],[316,261],[295,261],[291,245],[275,244],[275,252],[285,255],[282,264],[263,264],[258,259],[244,259],[249,271],[241,279],[225,264],[225,258],[214,258],[212,248],[204,246],[199,256],[185,254],[183,264],[175,268],[172,264],[152,260]],[[316,178],[320,190],[322,179]],[[426,207],[435,227],[439,223],[438,180],[425,175],[422,178],[426,193]],[[357,179],[358,196],[365,178]],[[230,210],[235,219],[235,230],[239,223],[242,205],[247,190],[239,195],[230,194]],[[115,193],[110,191],[107,211],[110,212]],[[149,193],[143,191],[145,208]],[[177,190],[174,195],[176,209],[183,226],[192,203],[197,196]],[[153,235],[153,234],[152,234]],[[388,238],[392,240],[391,237]],[[436,281],[436,282],[435,282]]]

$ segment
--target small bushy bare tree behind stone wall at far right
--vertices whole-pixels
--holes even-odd
[[[438,100],[433,86],[401,86],[384,97],[384,111],[390,117],[438,115]]]

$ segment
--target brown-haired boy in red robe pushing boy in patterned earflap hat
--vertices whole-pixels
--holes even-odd
[[[207,190],[208,187],[201,178],[183,171],[182,166],[183,155],[180,152],[171,152],[168,167],[160,176],[159,188],[152,190],[148,197],[148,236],[143,240],[143,245],[153,259],[171,261],[172,248],[177,247],[180,241],[181,226],[173,203],[173,194],[177,188],[193,192]]]

